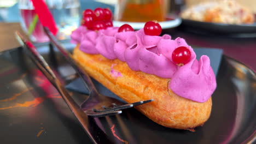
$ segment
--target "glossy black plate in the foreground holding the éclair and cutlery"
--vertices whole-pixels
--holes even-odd
[[[58,52],[38,47],[64,83],[74,79],[74,70]],[[20,48],[1,53],[0,59],[1,143],[91,143],[60,95]],[[116,143],[255,142],[255,73],[224,56],[217,82],[211,117],[195,132],[162,127],[135,109],[94,120]],[[73,98],[80,103],[86,95],[73,92]]]

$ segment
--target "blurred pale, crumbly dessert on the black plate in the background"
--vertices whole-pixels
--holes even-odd
[[[249,24],[254,22],[251,10],[232,0],[208,1],[185,9],[183,19],[226,24]]]

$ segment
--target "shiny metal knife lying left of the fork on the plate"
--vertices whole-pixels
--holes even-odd
[[[15,32],[16,39],[24,47],[28,56],[31,60],[37,65],[37,67],[42,71],[46,78],[53,84],[53,86],[59,91],[62,98],[67,103],[69,109],[74,113],[75,117],[78,119],[79,123],[82,125],[92,142],[94,143],[114,143],[108,136],[97,126],[94,121],[94,118],[88,117],[85,112],[80,109],[80,107],[75,103],[71,95],[67,92],[66,88],[62,86],[59,79],[53,73],[49,65],[46,63],[44,58],[40,55],[34,45],[26,40],[22,35],[17,31]],[[93,128],[91,127],[93,125]]]

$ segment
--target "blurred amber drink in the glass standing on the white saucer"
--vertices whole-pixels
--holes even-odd
[[[165,0],[119,0],[118,21],[165,21]]]

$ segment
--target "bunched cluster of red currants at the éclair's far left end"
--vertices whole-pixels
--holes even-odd
[[[82,26],[94,31],[113,27],[112,13],[106,8],[96,8],[94,11],[86,9],[83,12]]]

